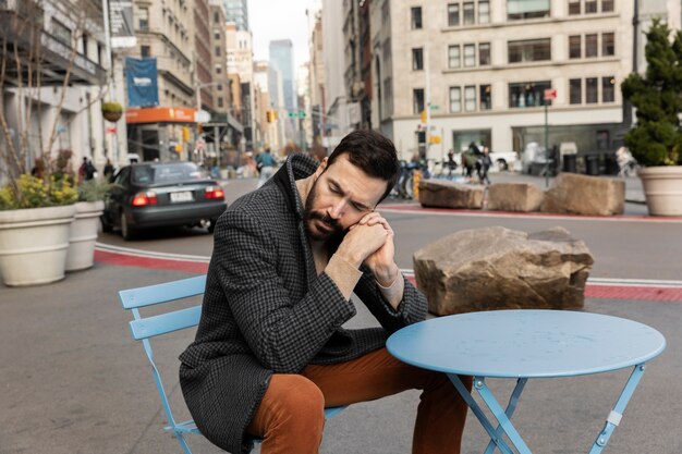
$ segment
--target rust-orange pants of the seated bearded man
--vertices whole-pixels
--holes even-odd
[[[471,377],[461,377],[471,390]],[[263,438],[263,454],[319,451],[325,407],[374,401],[423,390],[412,441],[413,454],[458,454],[467,406],[444,373],[401,363],[386,348],[300,375],[276,373],[247,432]]]

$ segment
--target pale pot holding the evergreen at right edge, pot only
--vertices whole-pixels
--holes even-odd
[[[682,165],[649,167],[637,174],[650,216],[682,216]]]

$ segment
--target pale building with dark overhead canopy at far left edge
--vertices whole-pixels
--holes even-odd
[[[73,151],[76,168],[81,158],[96,164],[113,158],[105,146],[111,125],[100,112],[100,101],[109,100],[101,3],[0,2],[0,40],[7,49],[0,53],[0,114],[8,127],[0,134],[0,181],[14,165],[12,149],[29,170],[35,159],[56,158],[59,149]]]

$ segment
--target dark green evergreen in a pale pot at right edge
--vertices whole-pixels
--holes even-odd
[[[625,146],[643,165],[638,175],[653,216],[682,216],[682,33],[672,41],[670,34],[665,22],[653,22],[646,33],[646,72],[630,74],[621,86],[637,109]]]

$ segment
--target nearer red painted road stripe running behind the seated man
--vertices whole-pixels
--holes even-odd
[[[95,250],[95,261],[120,267],[149,268],[155,270],[181,271],[200,274],[208,271],[208,263],[188,260],[171,260],[157,257]],[[405,278],[416,285],[414,274]],[[605,299],[640,299],[650,302],[682,302],[682,287],[656,287],[635,285],[587,284],[585,297]]]

